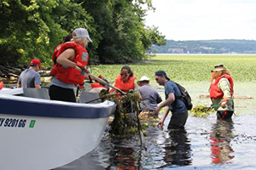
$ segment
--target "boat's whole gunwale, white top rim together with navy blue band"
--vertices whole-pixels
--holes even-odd
[[[0,114],[8,115],[102,118],[112,116],[116,104],[109,100],[99,104],[83,104],[0,94],[0,107]]]

